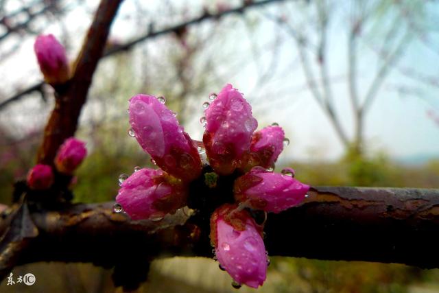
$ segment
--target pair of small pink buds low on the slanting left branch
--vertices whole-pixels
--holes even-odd
[[[74,137],[66,139],[58,149],[54,165],[56,171],[64,175],[72,175],[87,154],[85,143]],[[38,164],[27,174],[27,186],[34,190],[49,189],[54,183],[54,170],[49,165]]]

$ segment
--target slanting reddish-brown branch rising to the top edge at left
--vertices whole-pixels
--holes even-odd
[[[71,80],[57,89],[55,108],[47,122],[38,163],[53,165],[59,146],[75,134],[93,73],[104,52],[110,25],[122,0],[102,0],[75,61]]]

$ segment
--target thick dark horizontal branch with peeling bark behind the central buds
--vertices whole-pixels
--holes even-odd
[[[38,236],[29,237],[17,264],[79,261],[111,267],[120,254],[136,267],[156,257],[212,257],[209,229],[200,228],[205,223],[182,212],[158,222],[131,221],[114,213],[112,204],[31,211]],[[265,246],[270,255],[439,268],[438,232],[439,189],[314,187],[300,207],[268,215]]]

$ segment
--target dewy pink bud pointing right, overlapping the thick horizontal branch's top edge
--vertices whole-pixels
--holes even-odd
[[[280,213],[294,207],[305,198],[309,185],[300,183],[292,176],[267,172],[254,167],[235,180],[235,199],[246,202],[254,209]]]

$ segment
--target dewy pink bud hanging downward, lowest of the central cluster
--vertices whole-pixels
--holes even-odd
[[[224,204],[211,217],[211,242],[219,264],[240,284],[258,288],[265,281],[268,259],[258,226],[248,211]]]

